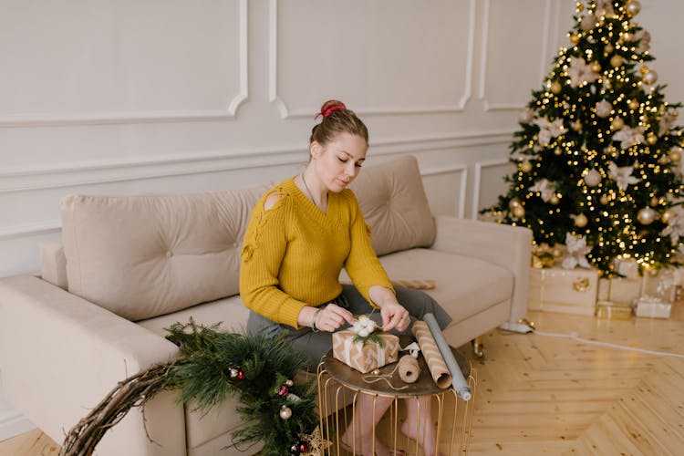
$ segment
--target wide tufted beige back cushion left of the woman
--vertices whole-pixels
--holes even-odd
[[[132,321],[238,294],[244,229],[268,187],[65,197],[68,291]]]

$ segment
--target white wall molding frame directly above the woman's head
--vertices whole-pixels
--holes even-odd
[[[439,114],[448,112],[461,112],[465,110],[465,105],[472,97],[472,68],[475,47],[475,28],[476,28],[476,4],[477,0],[469,0],[468,15],[468,44],[466,48],[466,62],[464,68],[465,81],[461,99],[455,105],[439,106],[405,106],[393,109],[381,107],[358,107],[354,111],[359,116],[390,116],[406,114]],[[275,104],[280,112],[281,119],[309,119],[316,113],[318,107],[312,109],[290,109],[285,99],[278,94],[278,0],[269,1],[269,100]]]

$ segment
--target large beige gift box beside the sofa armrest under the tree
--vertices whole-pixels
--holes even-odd
[[[527,308],[594,315],[597,284],[596,269],[532,268]]]

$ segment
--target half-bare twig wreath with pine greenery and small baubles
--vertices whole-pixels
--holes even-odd
[[[227,447],[244,448],[263,440],[262,453],[274,456],[305,456],[320,447],[314,380],[293,381],[306,370],[308,360],[285,338],[221,332],[218,325],[200,326],[192,319],[167,331],[167,338],[181,347],[180,357],[119,382],[69,430],[61,456],[92,454],[107,430],[131,408],[144,407],[165,389],[178,389],[177,400],[194,401],[200,412],[237,395],[243,404],[237,411],[245,425],[233,431]]]

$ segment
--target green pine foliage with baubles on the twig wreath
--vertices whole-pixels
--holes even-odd
[[[207,411],[229,396],[239,399],[237,411],[244,426],[233,432],[231,446],[245,450],[263,440],[262,454],[288,455],[316,428],[314,379],[292,381],[306,370],[308,359],[284,337],[224,333],[192,320],[168,331],[167,338],[181,346],[185,361],[170,378],[171,385],[181,388],[179,401],[192,400],[200,411]],[[281,396],[284,385],[288,392]],[[281,418],[284,407],[291,410],[288,419]]]

